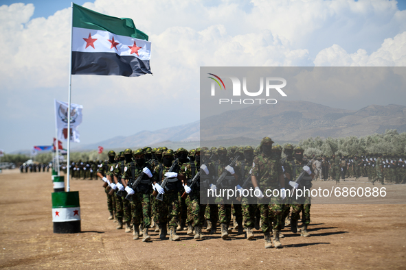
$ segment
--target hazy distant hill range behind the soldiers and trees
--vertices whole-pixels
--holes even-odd
[[[258,145],[270,136],[278,143],[297,143],[320,136],[327,138],[382,134],[387,129],[406,132],[406,107],[371,105],[361,110],[330,108],[308,101],[278,101],[278,106],[249,106],[210,116],[201,122],[117,136],[89,145],[74,145],[72,151],[125,149],[166,145],[171,149],[223,145]],[[200,137],[201,136],[201,137]],[[202,142],[199,140],[202,138]]]

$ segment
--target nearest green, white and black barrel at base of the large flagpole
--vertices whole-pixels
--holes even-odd
[[[80,232],[79,191],[52,193],[54,234]]]

